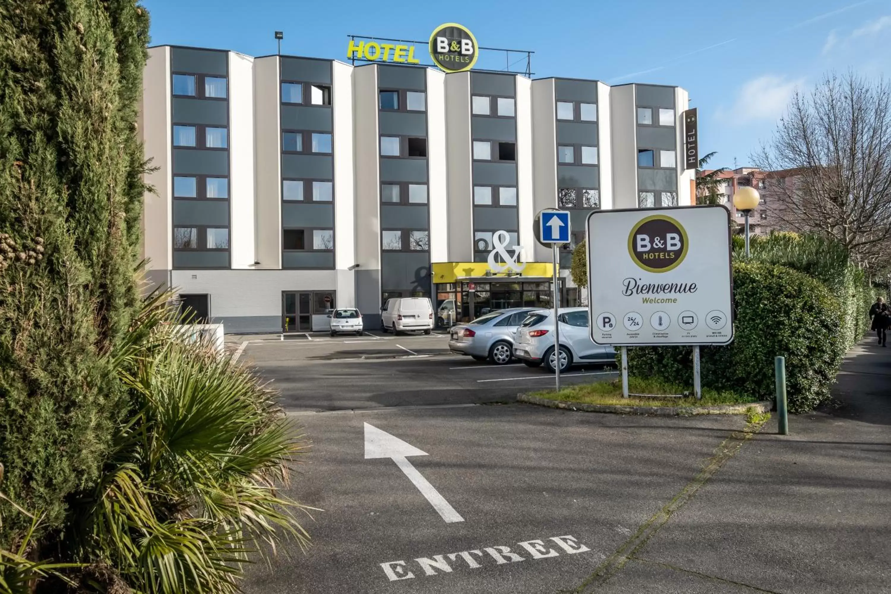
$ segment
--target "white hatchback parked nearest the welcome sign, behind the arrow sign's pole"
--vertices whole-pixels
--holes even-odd
[[[587,307],[562,307],[560,319],[560,371],[571,365],[587,362],[615,362],[616,351],[612,346],[595,345],[588,330]],[[544,368],[551,372],[557,366],[554,354],[554,321],[552,310],[536,310],[529,313],[517,330],[513,356],[529,367]]]

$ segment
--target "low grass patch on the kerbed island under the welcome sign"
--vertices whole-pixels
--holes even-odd
[[[628,392],[630,394],[646,395],[679,395],[685,393],[690,395],[682,398],[634,395],[629,398],[623,398],[621,378],[567,387],[560,390],[560,392],[554,392],[553,390],[533,392],[531,395],[567,403],[603,404],[606,406],[713,406],[715,404],[757,402],[757,399],[750,395],[729,391],[718,392],[708,388],[702,388],[702,399],[697,400],[692,395],[693,389],[691,387],[678,386],[659,378],[637,378],[634,376],[628,378]]]

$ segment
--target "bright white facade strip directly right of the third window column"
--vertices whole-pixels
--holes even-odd
[[[448,262],[448,167],[446,167],[446,73],[427,69],[427,197],[430,262]]]

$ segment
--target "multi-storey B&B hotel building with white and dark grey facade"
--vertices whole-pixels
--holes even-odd
[[[375,329],[389,297],[451,303],[459,320],[550,306],[536,212],[569,210],[575,245],[593,209],[692,203],[680,87],[170,45],[149,56],[149,278],[226,332],[327,330],[335,306]],[[490,256],[517,264],[497,273]]]

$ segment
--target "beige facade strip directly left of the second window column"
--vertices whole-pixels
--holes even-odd
[[[279,58],[254,61],[255,229],[257,266],[282,267],[282,153],[279,135]],[[280,305],[281,307],[281,305]]]

